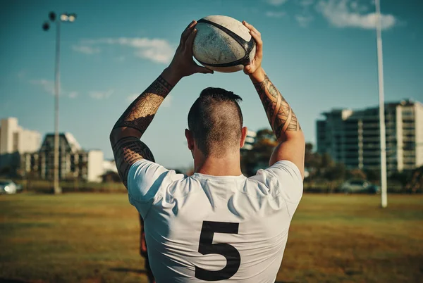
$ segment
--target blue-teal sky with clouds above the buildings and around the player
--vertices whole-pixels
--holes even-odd
[[[423,101],[423,2],[381,0],[387,101]],[[75,12],[61,37],[60,130],[85,149],[111,158],[117,118],[171,60],[193,19],[229,15],[262,32],[263,67],[298,116],[307,141],[331,108],[378,103],[372,0],[1,1],[0,118],[42,134],[54,128],[54,29],[49,11]],[[193,75],[166,98],[143,140],[156,160],[189,167],[188,110],[205,87],[243,97],[245,125],[269,127],[254,87],[242,72]]]

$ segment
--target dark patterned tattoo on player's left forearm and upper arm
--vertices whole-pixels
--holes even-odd
[[[161,102],[171,92],[172,88],[171,84],[159,76],[145,92],[140,94],[130,104],[114,125],[114,129],[130,127],[140,132],[140,136],[142,136],[152,122],[154,115],[156,115]],[[127,185],[128,171],[133,163],[140,159],[154,162],[152,152],[138,137],[120,137],[120,139],[115,139],[111,142],[111,146],[119,176],[125,187]]]

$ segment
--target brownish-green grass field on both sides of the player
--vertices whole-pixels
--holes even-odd
[[[423,196],[305,195],[278,282],[422,282]],[[0,282],[147,282],[125,194],[0,196]]]

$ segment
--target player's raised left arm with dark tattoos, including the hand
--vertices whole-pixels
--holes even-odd
[[[197,31],[196,24],[195,20],[192,21],[183,31],[171,64],[130,104],[111,130],[111,147],[119,176],[125,187],[128,171],[133,163],[140,159],[154,161],[152,152],[140,141],[140,138],[173,86],[182,77],[193,73],[213,73],[212,70],[197,65],[192,59],[192,42]]]

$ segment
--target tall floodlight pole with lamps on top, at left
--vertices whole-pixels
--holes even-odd
[[[60,194],[61,188],[59,187],[59,94],[60,94],[60,23],[61,22],[74,22],[76,19],[75,13],[62,13],[59,20],[56,13],[49,13],[49,20],[51,23],[56,24],[56,59],[54,67],[54,194]],[[45,21],[42,24],[42,29],[47,31],[50,29],[50,22]]]

